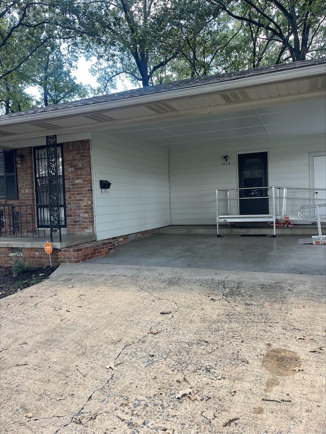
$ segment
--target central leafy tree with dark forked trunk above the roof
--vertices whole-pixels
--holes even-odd
[[[205,3],[204,8],[200,7],[202,4],[198,0],[196,5],[181,0],[100,0],[84,4],[79,26],[83,30],[85,26],[88,28],[83,42],[89,53],[96,47],[98,62],[94,73],[98,74],[103,90],[120,74],[142,86],[159,81],[165,67],[187,44],[179,25],[187,20],[183,12],[192,19],[196,34],[207,24],[203,9],[212,8]]]

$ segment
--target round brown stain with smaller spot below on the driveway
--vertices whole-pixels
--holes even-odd
[[[263,366],[272,374],[282,376],[294,375],[301,367],[301,360],[299,355],[294,353],[294,351],[276,348],[266,353],[263,358]],[[276,385],[274,382],[273,385],[269,385],[269,388],[273,388]]]

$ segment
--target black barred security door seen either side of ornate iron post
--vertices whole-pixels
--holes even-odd
[[[62,146],[57,146],[57,164],[58,164],[58,184],[59,184],[59,210],[60,226],[66,226],[66,206],[65,206],[65,180],[63,170],[63,153]],[[35,195],[37,207],[37,224],[38,227],[50,227],[49,214],[49,178],[47,169],[47,152],[46,148],[34,148],[34,167],[35,167]]]

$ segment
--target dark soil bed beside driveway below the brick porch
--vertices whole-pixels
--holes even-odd
[[[53,271],[53,267],[31,268],[23,271],[18,276],[14,276],[12,267],[0,267],[0,298],[15,294],[42,280],[47,279]]]

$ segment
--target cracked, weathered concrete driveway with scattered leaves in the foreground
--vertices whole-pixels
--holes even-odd
[[[324,276],[60,266],[1,300],[1,432],[324,434],[324,346]]]

